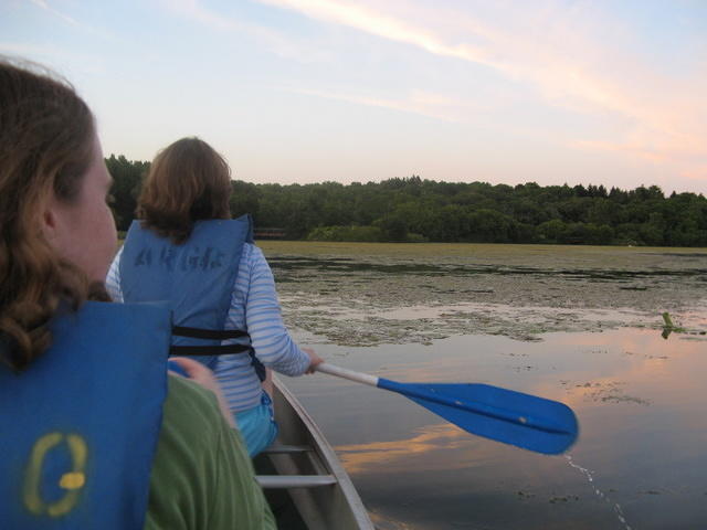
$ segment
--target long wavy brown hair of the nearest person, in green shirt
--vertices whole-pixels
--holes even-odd
[[[0,361],[25,368],[51,343],[60,306],[107,299],[43,236],[43,205],[76,200],[91,163],[93,114],[68,82],[0,56]]]

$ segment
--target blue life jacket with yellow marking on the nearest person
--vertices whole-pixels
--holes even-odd
[[[167,394],[165,305],[85,303],[0,364],[0,528],[140,529]]]

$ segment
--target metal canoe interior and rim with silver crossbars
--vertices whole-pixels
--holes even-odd
[[[275,443],[255,458],[278,528],[374,530],[351,479],[314,420],[273,378]]]

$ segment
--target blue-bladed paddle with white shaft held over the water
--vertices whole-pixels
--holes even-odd
[[[464,431],[557,455],[577,439],[572,410],[557,401],[481,383],[399,383],[323,362],[317,371],[398,392]]]

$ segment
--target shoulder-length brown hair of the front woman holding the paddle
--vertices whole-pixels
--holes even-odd
[[[199,138],[182,138],[152,160],[137,216],[146,229],[181,244],[197,221],[230,219],[230,197],[231,170],[223,157]]]

